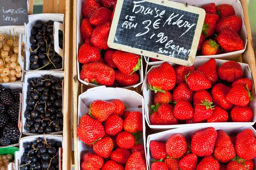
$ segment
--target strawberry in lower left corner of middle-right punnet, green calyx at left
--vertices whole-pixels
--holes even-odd
[[[173,115],[173,106],[169,104],[152,105],[154,113],[149,116],[151,125],[177,125],[178,119]]]

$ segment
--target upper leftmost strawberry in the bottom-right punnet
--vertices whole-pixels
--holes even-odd
[[[164,142],[150,141],[151,157],[157,161],[166,159],[166,144]]]

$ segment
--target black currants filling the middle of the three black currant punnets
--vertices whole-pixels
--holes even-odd
[[[52,75],[29,78],[26,93],[25,130],[28,133],[53,133],[63,130],[62,81]]]

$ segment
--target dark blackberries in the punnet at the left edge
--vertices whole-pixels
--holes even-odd
[[[0,146],[19,143],[18,116],[21,89],[0,85]]]

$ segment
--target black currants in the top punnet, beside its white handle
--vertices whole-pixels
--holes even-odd
[[[62,57],[54,51],[54,21],[44,23],[36,20],[31,29],[29,42],[32,44],[29,52],[30,70],[51,70],[62,68]],[[63,32],[59,31],[59,46],[63,48]]]

